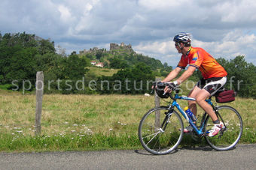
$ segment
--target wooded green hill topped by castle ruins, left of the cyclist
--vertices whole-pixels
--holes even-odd
[[[2,36],[0,33],[0,85],[8,85],[8,89],[14,91],[33,91],[35,75],[43,71],[47,94],[142,94],[145,90],[136,91],[141,85],[134,84],[154,80],[157,74],[161,76],[164,69],[169,69],[159,60],[137,54],[130,44],[110,43],[109,50],[94,47],[78,55],[76,52],[71,55],[56,52],[59,49],[50,39],[44,40],[35,34],[6,33]],[[92,67],[92,61],[101,62],[105,67]],[[78,83],[83,79],[84,82]],[[126,85],[126,79],[134,82],[130,83],[131,88]],[[99,83],[106,80],[109,85]],[[116,80],[122,87],[113,84]],[[97,85],[92,88],[91,82]],[[126,86],[129,91],[123,90]]]

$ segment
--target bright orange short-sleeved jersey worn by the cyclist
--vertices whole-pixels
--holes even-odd
[[[185,68],[187,64],[197,67],[202,73],[204,79],[212,77],[227,76],[226,70],[218,64],[212,55],[209,55],[204,49],[199,47],[190,47],[187,55],[181,55],[178,67]]]

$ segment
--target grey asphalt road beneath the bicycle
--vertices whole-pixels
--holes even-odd
[[[232,151],[181,148],[154,156],[146,151],[0,153],[0,169],[256,169],[256,145]]]

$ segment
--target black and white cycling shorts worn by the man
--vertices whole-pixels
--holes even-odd
[[[206,91],[211,94],[215,94],[221,87],[225,85],[227,82],[227,77],[212,77],[209,79],[200,79],[199,82],[197,82],[197,87],[200,89],[205,89]]]

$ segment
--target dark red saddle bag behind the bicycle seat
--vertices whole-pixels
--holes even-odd
[[[236,92],[233,90],[224,90],[221,92],[218,92],[215,95],[215,100],[217,103],[229,103],[233,102],[236,97]]]

